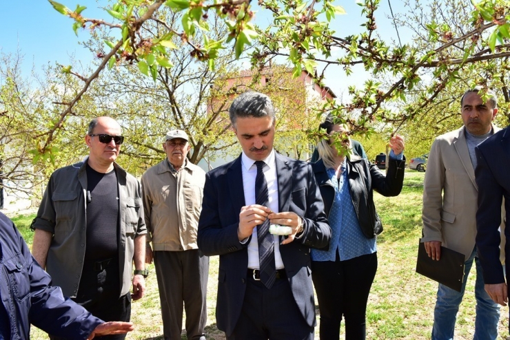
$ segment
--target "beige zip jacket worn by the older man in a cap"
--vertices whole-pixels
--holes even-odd
[[[142,197],[147,242],[154,251],[197,249],[205,171],[185,160],[176,176],[165,158],[143,173]]]

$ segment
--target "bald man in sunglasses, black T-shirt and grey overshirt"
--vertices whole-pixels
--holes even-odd
[[[31,226],[32,253],[53,284],[105,321],[130,320],[147,275],[141,185],[115,163],[122,142],[116,120],[94,118],[88,158],[52,174]]]

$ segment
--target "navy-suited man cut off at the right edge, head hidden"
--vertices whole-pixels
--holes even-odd
[[[506,211],[505,238],[510,237],[510,129],[502,129],[476,147],[478,185],[476,213],[476,246],[483,268],[485,290],[494,302],[507,306],[508,288],[500,262],[500,231],[502,199]],[[510,243],[504,247],[505,263],[510,264]],[[510,275],[510,266],[505,266]]]

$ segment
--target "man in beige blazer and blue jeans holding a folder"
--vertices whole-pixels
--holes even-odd
[[[475,182],[475,147],[498,127],[492,121],[498,113],[496,96],[487,92],[487,101],[471,89],[460,99],[464,126],[436,138],[429,153],[423,191],[423,238],[429,257],[439,260],[440,247],[465,255],[462,292],[439,284],[432,339],[453,339],[456,316],[469,270],[476,264],[476,321],[474,339],[496,339],[500,317],[484,290],[482,267],[476,252],[476,209],[478,187]]]

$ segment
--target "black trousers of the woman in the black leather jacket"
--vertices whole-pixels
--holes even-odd
[[[320,310],[320,340],[338,340],[345,317],[345,340],[364,340],[368,295],[377,271],[377,253],[340,261],[313,261],[312,279]]]

